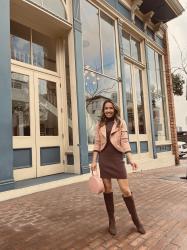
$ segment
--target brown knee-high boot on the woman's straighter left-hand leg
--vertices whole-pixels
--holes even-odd
[[[114,217],[114,201],[113,201],[113,192],[111,193],[103,193],[106,210],[108,213],[109,219],[109,228],[108,231],[112,235],[116,235],[116,222]]]

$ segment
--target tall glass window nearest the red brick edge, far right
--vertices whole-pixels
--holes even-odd
[[[164,89],[164,75],[162,56],[147,47],[148,75],[151,87],[153,120],[156,141],[168,139],[166,98]]]

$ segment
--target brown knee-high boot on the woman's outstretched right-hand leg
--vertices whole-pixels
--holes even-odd
[[[137,212],[136,212],[136,207],[135,207],[133,196],[131,195],[131,196],[125,197],[122,195],[122,197],[131,215],[132,221],[134,222],[137,228],[137,231],[141,234],[145,234],[145,229],[143,228],[143,225],[140,222]]]

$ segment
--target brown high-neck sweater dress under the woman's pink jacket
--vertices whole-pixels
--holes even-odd
[[[107,144],[99,153],[100,176],[106,179],[127,179],[123,153],[118,151],[110,142],[110,133],[113,124],[113,119],[108,119],[106,122]]]

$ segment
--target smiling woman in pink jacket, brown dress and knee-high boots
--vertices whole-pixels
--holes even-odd
[[[126,153],[133,170],[137,164],[133,161],[131,148],[128,142],[127,126],[120,119],[119,108],[111,101],[103,103],[102,114],[96,126],[95,144],[91,170],[97,168],[97,157],[99,155],[100,176],[105,186],[104,201],[109,218],[109,233],[116,235],[116,223],[114,217],[114,203],[111,179],[117,179],[122,192],[123,200],[132,217],[132,220],[141,234],[145,234],[136,213],[136,207],[127,180],[127,172],[123,162],[123,153]]]

